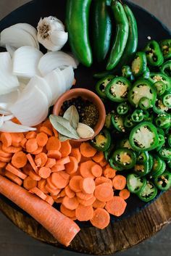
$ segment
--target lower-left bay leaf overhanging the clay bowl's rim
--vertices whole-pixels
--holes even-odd
[[[70,139],[80,139],[75,128],[73,128],[70,122],[64,117],[50,115],[49,120],[54,128],[62,135],[67,136]]]

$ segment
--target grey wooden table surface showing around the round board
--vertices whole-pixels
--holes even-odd
[[[1,0],[0,1],[0,19],[6,16],[16,7],[28,2],[27,0]],[[133,0],[135,4],[139,4],[151,13],[159,17],[167,27],[171,28],[170,20],[170,0]],[[50,0],[49,0],[50,3]],[[171,249],[171,226],[167,226],[159,234],[152,237],[148,241],[144,241],[137,247],[129,249],[127,252],[117,253],[119,256],[128,255],[155,255],[167,256],[170,255]],[[4,215],[0,215],[0,256],[55,256],[55,255],[70,255],[74,253],[67,252],[63,249],[57,249],[49,245],[43,244],[23,234],[18,228],[12,225]],[[76,254],[75,254],[76,255]],[[78,254],[77,255],[81,255]]]

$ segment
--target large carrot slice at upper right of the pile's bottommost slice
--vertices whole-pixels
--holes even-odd
[[[105,208],[110,214],[119,217],[123,212],[125,212],[126,206],[127,203],[122,199],[122,197],[113,197],[107,202]]]

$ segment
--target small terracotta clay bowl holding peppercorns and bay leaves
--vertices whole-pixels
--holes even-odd
[[[78,96],[81,96],[83,99],[88,99],[88,101],[92,102],[96,105],[96,107],[99,110],[99,120],[96,123],[96,126],[93,128],[94,135],[93,137],[87,138],[87,139],[77,139],[74,141],[88,141],[90,139],[93,139],[104,127],[105,118],[106,118],[106,110],[104,107],[103,102],[101,102],[101,99],[99,96],[93,93],[93,91],[84,89],[84,88],[75,88],[71,89],[69,91],[66,91],[62,96],[59,97],[57,102],[54,104],[53,114],[59,115],[62,104],[66,102],[67,100],[78,98]]]

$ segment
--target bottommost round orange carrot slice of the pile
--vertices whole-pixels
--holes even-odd
[[[93,218],[91,219],[91,224],[100,229],[107,228],[110,222],[110,215],[107,210],[102,208],[97,208],[93,212]]]

